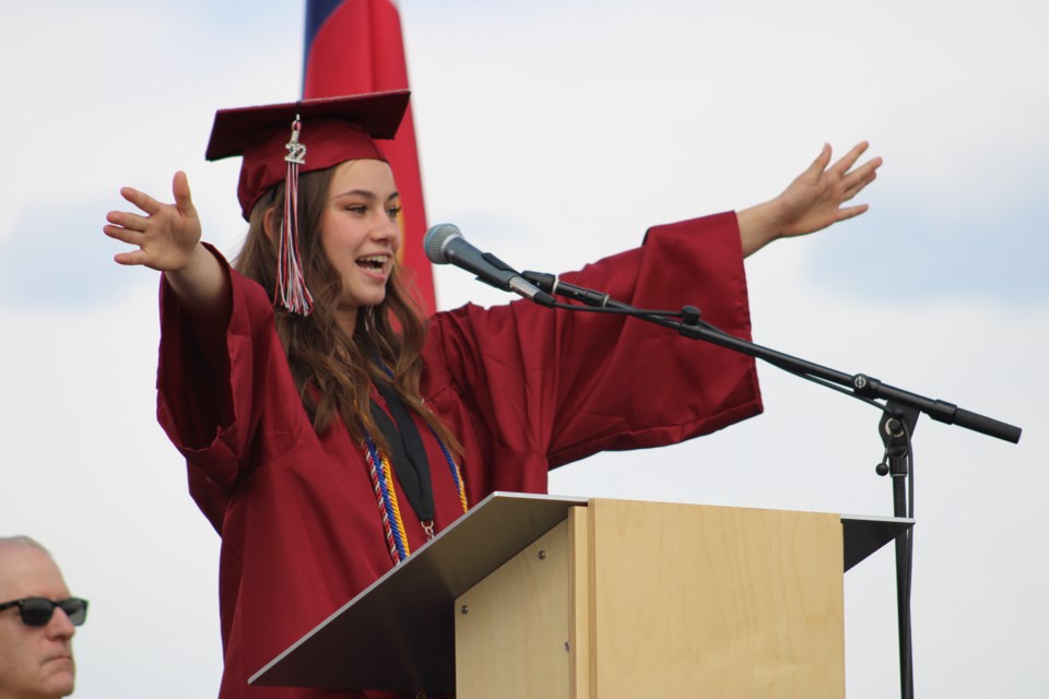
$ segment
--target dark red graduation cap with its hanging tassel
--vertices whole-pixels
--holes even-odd
[[[298,257],[298,174],[346,161],[386,161],[375,140],[397,134],[408,99],[409,92],[398,90],[215,112],[204,157],[244,158],[237,199],[246,221],[267,190],[286,182],[276,295],[287,310],[305,316],[313,309]]]

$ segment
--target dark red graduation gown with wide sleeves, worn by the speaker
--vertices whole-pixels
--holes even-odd
[[[361,447],[302,406],[270,299],[229,270],[225,354],[207,359],[162,285],[157,415],[186,457],[190,493],[222,535],[222,699],[385,697],[249,687],[247,678],[392,566]],[[640,248],[565,281],[639,308],[697,306],[750,339],[732,213],[649,230]],[[465,306],[429,321],[422,394],[459,437],[471,505],[544,493],[550,469],[602,450],[657,447],[761,412],[754,362],[636,319],[528,301]],[[461,512],[447,461],[417,419],[436,529]],[[398,486],[412,550],[422,526]]]

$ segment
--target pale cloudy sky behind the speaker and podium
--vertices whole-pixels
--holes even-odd
[[[865,215],[747,260],[754,337],[1024,428],[918,423],[915,685],[1049,695],[1049,5],[399,7],[428,220],[518,269],[765,201],[824,142],[871,142]],[[121,186],[169,200],[185,169],[205,238],[235,252],[239,165],[204,162],[211,121],[299,95],[303,24],[274,0],[0,7],[0,535],[38,538],[91,600],[80,699],[213,696],[221,673],[219,540],[155,422],[157,275],[111,261],[104,216]],[[507,300],[436,279],[441,308]],[[759,375],[764,415],[565,466],[551,491],[891,516],[879,413]],[[892,549],[845,592],[848,696],[898,696]]]

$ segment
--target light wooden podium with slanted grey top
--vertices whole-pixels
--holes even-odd
[[[495,493],[250,683],[840,699],[842,570],[911,524]]]

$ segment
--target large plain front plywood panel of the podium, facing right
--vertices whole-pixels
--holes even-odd
[[[845,695],[838,516],[594,500],[592,696]]]

